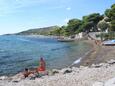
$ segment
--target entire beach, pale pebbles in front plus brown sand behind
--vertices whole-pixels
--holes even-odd
[[[92,50],[76,67],[53,69],[47,76],[35,79],[24,79],[21,73],[1,76],[0,86],[115,86],[115,47],[86,42]]]

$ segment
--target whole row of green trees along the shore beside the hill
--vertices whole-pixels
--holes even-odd
[[[67,26],[62,26],[61,28],[51,31],[51,34],[70,36],[80,32],[95,32],[98,31],[98,28],[104,31],[108,27],[109,31],[115,31],[115,4],[105,11],[105,15],[92,13],[83,16],[82,20],[70,19]]]

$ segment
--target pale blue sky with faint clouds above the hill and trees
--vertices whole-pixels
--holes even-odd
[[[91,13],[103,14],[115,0],[0,0],[0,34],[54,25]]]

